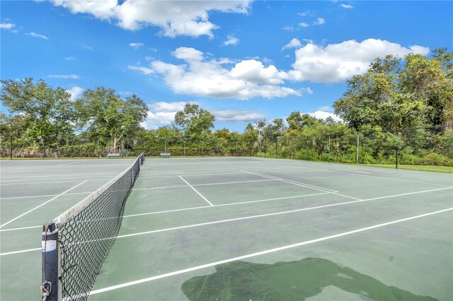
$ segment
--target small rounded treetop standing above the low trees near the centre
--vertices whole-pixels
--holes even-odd
[[[180,126],[186,136],[201,138],[214,127],[215,117],[196,104],[186,103],[184,110],[175,114],[175,124]]]

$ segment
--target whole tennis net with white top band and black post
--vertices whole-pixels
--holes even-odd
[[[144,154],[120,175],[43,226],[42,300],[86,300],[120,230]]]

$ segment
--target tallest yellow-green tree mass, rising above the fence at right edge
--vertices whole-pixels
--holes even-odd
[[[365,74],[348,80],[333,107],[349,126],[384,130],[453,123],[453,55],[436,49],[433,58],[375,59]]]

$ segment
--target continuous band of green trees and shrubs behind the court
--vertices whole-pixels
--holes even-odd
[[[147,155],[258,155],[336,162],[453,166],[453,54],[408,54],[372,61],[334,104],[343,119],[292,112],[256,120],[242,133],[214,128],[215,117],[195,104],[171,126],[144,129],[148,108],[137,95],[121,98],[98,87],[71,101],[64,88],[25,78],[1,81],[1,155],[96,156],[127,150]],[[7,138],[7,137],[13,138]],[[9,140],[8,140],[9,139]],[[358,141],[358,144],[357,144]],[[47,152],[47,153],[46,153]]]

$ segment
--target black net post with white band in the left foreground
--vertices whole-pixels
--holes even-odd
[[[58,300],[58,229],[55,223],[42,226],[42,301]]]

